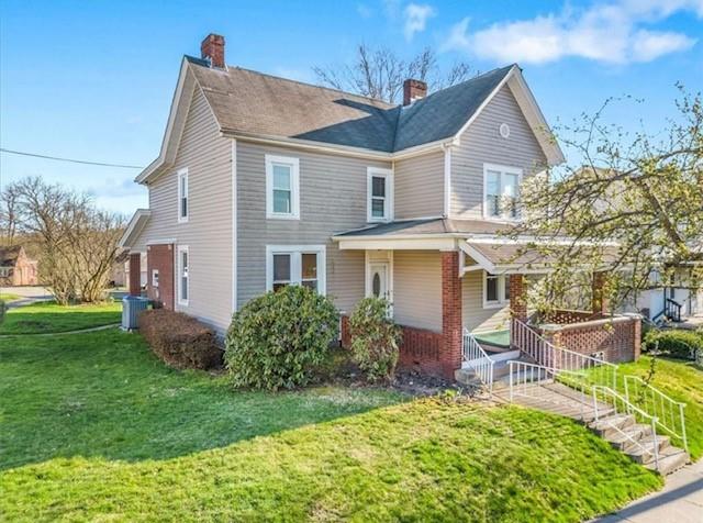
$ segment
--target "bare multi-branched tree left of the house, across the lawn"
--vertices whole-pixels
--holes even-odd
[[[104,298],[124,219],[94,208],[90,197],[32,177],[10,183],[18,233],[38,244],[40,279],[56,301]],[[7,226],[3,223],[3,226]]]

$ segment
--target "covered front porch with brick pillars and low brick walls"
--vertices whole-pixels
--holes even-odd
[[[379,226],[335,237],[341,251],[365,252],[366,296],[390,298],[403,331],[401,366],[454,379],[484,356],[544,363],[545,347],[605,361],[639,356],[639,316],[609,315],[603,275],[593,275],[590,310],[556,310],[537,320],[526,307],[527,279],[548,265],[518,259],[520,245],[495,234],[442,222],[442,231],[422,223],[409,234],[414,225],[399,231],[393,224],[390,234],[378,234]]]

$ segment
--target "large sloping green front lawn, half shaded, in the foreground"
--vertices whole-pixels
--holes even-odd
[[[232,390],[136,334],[0,340],[8,521],[569,521],[660,487],[570,420],[381,389]]]

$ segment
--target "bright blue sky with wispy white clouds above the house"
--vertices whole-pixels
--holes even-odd
[[[660,130],[674,82],[703,88],[703,0],[579,1],[25,1],[0,3],[2,147],[147,165],[158,154],[180,58],[210,32],[231,65],[314,81],[314,65],[355,45],[489,70],[517,62],[550,123],[593,112]],[[0,183],[41,175],[130,214],[146,207],[135,170],[0,155]]]

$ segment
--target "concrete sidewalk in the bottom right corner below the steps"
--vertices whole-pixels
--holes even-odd
[[[595,520],[601,523],[703,523],[703,459],[667,477],[659,492]]]

